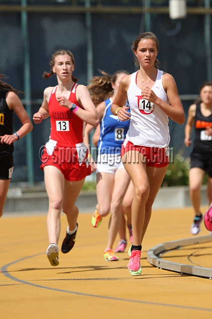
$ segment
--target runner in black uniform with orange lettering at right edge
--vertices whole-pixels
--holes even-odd
[[[190,198],[195,211],[191,233],[197,235],[203,221],[200,211],[201,185],[206,173],[208,173],[209,204],[212,201],[212,82],[202,84],[199,99],[189,108],[184,141],[187,147],[192,144],[190,136],[193,126],[195,127],[195,140],[191,154],[189,185]]]

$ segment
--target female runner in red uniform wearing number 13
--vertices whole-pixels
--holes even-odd
[[[85,177],[91,174],[88,150],[83,141],[85,124],[97,127],[99,117],[87,87],[76,84],[78,79],[72,76],[75,67],[73,54],[56,51],[50,67],[51,72],[44,72],[43,77],[48,79],[56,74],[58,85],[44,90],[43,103],[33,121],[38,124],[49,116],[51,120],[51,135],[43,151],[41,169],[44,170],[49,197],[47,230],[50,245],[46,255],[51,265],[57,266],[61,210],[68,221],[61,248],[65,254],[74,247],[78,229],[79,209],[75,202]]]

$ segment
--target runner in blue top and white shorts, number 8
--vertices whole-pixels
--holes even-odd
[[[95,102],[95,99],[99,98],[96,100],[96,105],[98,104],[97,112],[100,118],[101,131],[97,160],[98,204],[92,216],[92,225],[98,227],[102,218],[107,216],[109,212],[111,213],[104,258],[106,261],[116,261],[118,257],[115,256],[112,247],[120,226],[122,200],[130,182],[120,159],[121,145],[128,130],[129,122],[120,121],[117,116],[111,113],[110,107],[122,77],[126,76],[128,72],[117,71],[112,77],[103,71],[102,74],[103,76],[93,77],[88,86],[93,101]],[[86,126],[85,143],[88,143],[88,135],[92,130],[92,126]]]

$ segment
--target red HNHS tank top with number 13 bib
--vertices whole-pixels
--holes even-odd
[[[74,84],[69,96],[69,101],[83,108],[77,101]],[[49,99],[49,115],[51,121],[50,139],[57,142],[57,145],[73,146],[83,143],[85,122],[69,109],[60,106],[56,98],[57,87],[54,87]]]

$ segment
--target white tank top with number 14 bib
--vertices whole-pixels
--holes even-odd
[[[136,85],[137,72],[131,74],[127,91],[131,119],[125,141],[134,145],[164,148],[169,145],[170,140],[168,116],[157,105],[142,99],[142,90]],[[157,70],[157,78],[151,89],[169,104],[162,84],[162,75],[163,71]]]

